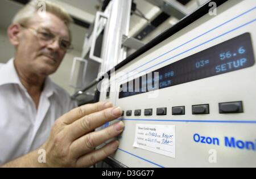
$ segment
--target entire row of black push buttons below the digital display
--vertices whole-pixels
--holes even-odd
[[[230,103],[220,103],[219,105],[219,112],[221,114],[226,113],[243,113],[243,106],[242,101],[238,102],[230,102]],[[132,115],[132,110],[126,111],[126,116]],[[209,104],[203,105],[193,105],[192,106],[192,114],[209,114]],[[124,114],[124,112],[123,112]],[[122,116],[123,116],[122,114]],[[184,115],[185,114],[185,106],[176,106],[172,107],[172,115]],[[153,109],[145,109],[144,116],[152,116]],[[157,116],[165,116],[167,115],[167,108],[157,108],[156,109]],[[134,111],[134,116],[141,116],[141,109]]]

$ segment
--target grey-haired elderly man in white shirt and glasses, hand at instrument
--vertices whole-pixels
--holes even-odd
[[[94,148],[123,130],[118,122],[92,132],[120,117],[121,109],[100,102],[71,110],[75,104],[68,94],[48,78],[71,48],[72,19],[62,8],[45,3],[44,13],[37,1],[30,2],[8,29],[15,57],[0,67],[2,167],[88,167],[117,150],[117,141]],[[44,154],[40,149],[46,152],[46,163],[38,160]]]

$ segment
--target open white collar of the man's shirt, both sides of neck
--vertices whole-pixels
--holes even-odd
[[[9,62],[3,65],[0,69],[0,86],[3,86],[5,84],[18,84],[20,87],[26,90],[26,88],[24,88],[23,84],[19,80],[19,76],[14,67],[13,58],[10,59]],[[57,93],[55,85],[53,84],[52,80],[49,79],[49,77],[47,76],[42,94],[50,97],[53,95],[54,92]]]

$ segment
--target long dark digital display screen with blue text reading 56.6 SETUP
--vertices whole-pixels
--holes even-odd
[[[254,63],[251,36],[244,33],[122,84],[119,99],[245,69]]]

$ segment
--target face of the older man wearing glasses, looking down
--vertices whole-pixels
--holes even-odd
[[[40,34],[50,32],[56,35],[55,41],[42,40]],[[66,50],[59,45],[59,39],[70,41],[67,25],[57,16],[46,13],[38,14],[22,28],[17,46],[16,58],[24,70],[33,74],[47,76],[55,73]]]

